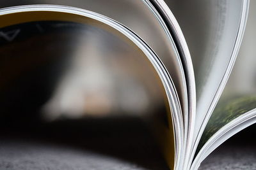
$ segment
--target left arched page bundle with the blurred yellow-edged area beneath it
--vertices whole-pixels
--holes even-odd
[[[179,101],[161,61],[140,38],[113,20],[74,8],[23,6],[0,12],[1,120],[17,113],[20,121],[43,122],[161,117],[171,110],[165,138],[173,166],[180,143],[174,142],[173,124],[181,126],[170,114],[177,113]],[[181,139],[177,131],[174,135]]]

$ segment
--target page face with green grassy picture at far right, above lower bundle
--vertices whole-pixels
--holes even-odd
[[[221,127],[256,108],[255,7],[256,3],[251,2],[246,31],[236,64],[205,128],[198,150]]]

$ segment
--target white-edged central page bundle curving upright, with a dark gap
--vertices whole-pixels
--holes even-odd
[[[148,2],[150,0],[147,0]],[[153,6],[154,13],[159,16],[159,22],[163,27],[167,28],[166,36],[170,40],[174,41],[179,52],[180,60],[182,61],[182,66],[184,68],[184,73],[186,76],[187,90],[188,90],[188,110],[183,113],[184,118],[184,150],[182,152],[182,158],[177,164],[177,169],[184,169],[187,162],[185,160],[188,157],[184,157],[185,153],[191,153],[191,141],[193,139],[193,129],[195,124],[195,109],[196,109],[196,92],[195,92],[195,75],[193,71],[193,65],[191,61],[191,56],[188,50],[188,45],[182,34],[177,20],[173,16],[170,8],[164,3],[163,0],[152,0],[150,1],[150,6]]]

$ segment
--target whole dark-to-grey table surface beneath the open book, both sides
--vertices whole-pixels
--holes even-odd
[[[255,126],[221,145],[201,169],[256,169]],[[0,169],[168,169],[141,121],[118,118],[1,125]]]

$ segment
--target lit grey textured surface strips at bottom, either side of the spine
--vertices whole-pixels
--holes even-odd
[[[151,169],[135,162],[90,150],[79,150],[68,146],[12,139],[1,140],[0,169],[32,170],[129,170]],[[200,170],[256,169],[255,146],[221,146],[202,162]],[[152,155],[154,157],[154,155]],[[145,155],[145,160],[148,155]],[[150,160],[152,161],[152,160]],[[153,160],[154,161],[154,160]],[[152,162],[148,162],[148,165]],[[154,169],[164,169],[163,162],[155,162]]]

